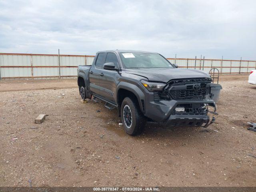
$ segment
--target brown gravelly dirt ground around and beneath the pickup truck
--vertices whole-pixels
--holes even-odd
[[[256,186],[256,86],[222,76],[216,124],[128,136],[75,79],[0,80],[0,186]],[[17,91],[18,90],[18,91]],[[100,110],[100,112],[97,112]],[[48,114],[35,124],[38,114]],[[254,156],[254,157],[253,157]]]

